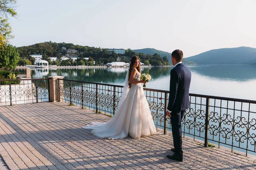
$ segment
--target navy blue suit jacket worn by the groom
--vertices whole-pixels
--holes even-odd
[[[189,86],[191,72],[189,68],[180,63],[171,70],[170,93],[167,109],[172,113],[178,113],[190,107]]]

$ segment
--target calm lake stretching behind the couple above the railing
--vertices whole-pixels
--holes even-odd
[[[147,88],[169,90],[173,67],[144,67],[142,73],[153,81]],[[256,100],[256,65],[195,65],[189,66],[192,81],[189,93]],[[123,85],[128,68],[32,68],[32,78],[64,76],[88,82]]]

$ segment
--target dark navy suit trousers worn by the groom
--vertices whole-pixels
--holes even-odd
[[[175,154],[181,157],[183,156],[181,120],[183,119],[184,113],[185,111],[171,113],[173,145],[176,150]]]

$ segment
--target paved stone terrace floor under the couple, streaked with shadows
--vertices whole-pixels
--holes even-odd
[[[0,154],[11,170],[76,169],[256,169],[256,161],[218,148],[183,140],[183,162],[171,154],[172,135],[163,131],[139,140],[99,139],[82,127],[108,121],[61,102],[0,107]]]

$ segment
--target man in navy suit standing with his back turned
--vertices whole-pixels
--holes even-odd
[[[169,103],[166,111],[167,116],[171,117],[174,144],[174,148],[171,150],[175,152],[173,155],[167,155],[167,157],[177,161],[183,161],[181,120],[185,110],[189,108],[190,105],[189,86],[191,72],[189,68],[181,62],[182,59],[183,52],[181,50],[172,52],[172,64],[175,65],[175,67],[171,70]]]

